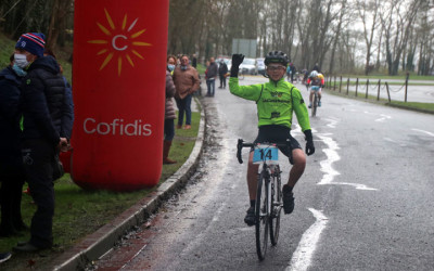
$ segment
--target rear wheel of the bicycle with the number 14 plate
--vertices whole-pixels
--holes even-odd
[[[279,240],[280,214],[282,211],[282,190],[280,179],[280,168],[275,168],[275,175],[271,178],[271,210],[270,210],[270,240],[271,245],[276,246]]]

